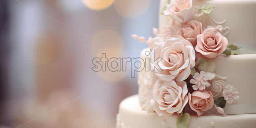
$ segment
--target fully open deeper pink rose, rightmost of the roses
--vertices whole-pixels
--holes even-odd
[[[207,28],[197,35],[195,50],[206,58],[214,58],[222,54],[228,47],[228,40],[222,36],[218,28]]]

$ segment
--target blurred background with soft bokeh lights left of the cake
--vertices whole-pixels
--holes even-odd
[[[0,0],[0,128],[114,128],[137,76],[94,57],[139,57],[158,0]],[[134,65],[132,65],[134,66]]]

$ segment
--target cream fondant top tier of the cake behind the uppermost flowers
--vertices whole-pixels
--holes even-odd
[[[161,0],[160,9],[166,6],[167,0]],[[226,35],[229,43],[240,44],[243,51],[240,54],[256,53],[256,0],[193,0],[193,7],[213,5],[214,11],[209,14],[216,22],[223,22],[223,27],[229,27]],[[204,19],[205,20],[205,19]],[[168,17],[159,17],[159,28],[168,23]],[[203,22],[203,20],[202,20]],[[209,22],[209,21],[206,21]]]

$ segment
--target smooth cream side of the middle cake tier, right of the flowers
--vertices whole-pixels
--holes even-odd
[[[215,73],[227,76],[226,83],[238,90],[236,104],[256,103],[256,54],[219,55],[212,60]]]

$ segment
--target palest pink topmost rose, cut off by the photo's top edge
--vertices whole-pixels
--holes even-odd
[[[164,14],[170,15],[179,23],[189,22],[195,15],[193,0],[171,0]]]

